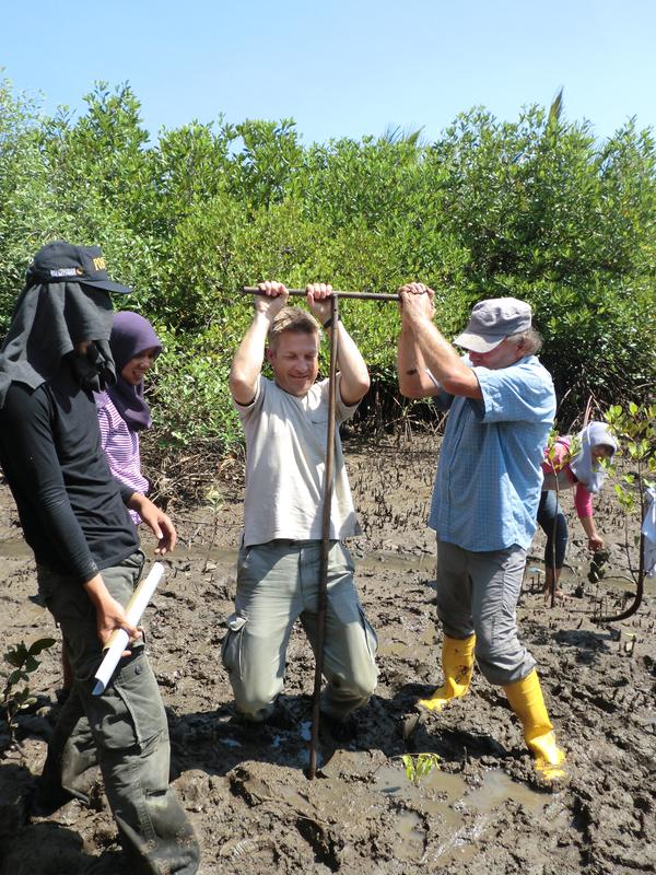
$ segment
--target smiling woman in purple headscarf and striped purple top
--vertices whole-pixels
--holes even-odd
[[[143,377],[162,352],[162,342],[148,319],[122,311],[114,317],[109,347],[116,383],[95,396],[103,450],[112,474],[143,494],[149,482],[141,474],[139,432],[152,425],[143,397]],[[130,511],[138,525],[139,514]]]

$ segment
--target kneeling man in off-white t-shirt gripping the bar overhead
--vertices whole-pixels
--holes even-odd
[[[331,324],[330,285],[307,287],[313,315],[286,306],[282,283],[262,282],[259,289],[263,294],[255,296],[254,319],[230,377],[246,435],[246,492],[235,612],[222,648],[237,710],[254,722],[271,714],[282,690],[296,619],[313,649],[316,642],[328,421],[328,381],[317,382],[319,323],[339,331],[338,424],[353,415],[370,386],[353,339],[341,320]],[[273,381],[261,375],[267,340]],[[359,532],[336,428],[321,711],[338,722],[367,702],[377,679],[376,635],[343,544]]]

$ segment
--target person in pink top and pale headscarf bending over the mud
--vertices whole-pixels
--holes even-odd
[[[593,495],[601,489],[606,471],[601,465],[611,460],[617,442],[605,422],[590,422],[574,439],[574,455],[571,455],[572,436],[559,436],[553,448],[544,451],[542,463],[542,494],[538,506],[538,523],[547,536],[544,547],[544,594],[552,587],[560,598],[559,580],[567,548],[567,521],[558,492],[574,489],[574,506],[581,525],[588,538],[588,549],[597,552],[604,548],[604,538],[597,532],[593,517]],[[554,578],[555,572],[555,578]]]

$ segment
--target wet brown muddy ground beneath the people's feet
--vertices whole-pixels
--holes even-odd
[[[470,693],[430,716],[405,743],[402,718],[440,681],[434,540],[425,528],[436,441],[347,444],[365,534],[353,540],[359,588],[379,638],[379,684],[354,720],[354,735],[325,745],[319,777],[304,775],[311,726],[313,658],[294,633],[278,725],[235,725],[220,664],[223,619],[232,610],[241,525],[241,466],[224,466],[224,503],[169,510],[181,544],[149,609],[151,658],[168,712],[173,781],[202,848],[200,872],[634,873],[656,871],[656,594],[647,584],[633,618],[593,622],[604,598],[612,610],[631,585],[586,582],[581,597],[547,609],[537,572],[527,572],[518,609],[524,641],[538,661],[546,698],[569,751],[571,782],[557,793],[534,784],[519,726],[503,693],[478,675]],[[571,504],[566,499],[565,503]],[[567,505],[569,506],[569,505]],[[612,489],[597,501],[612,570],[625,573],[623,516]],[[570,512],[572,567],[565,587],[586,581],[589,557]],[[635,521],[630,526],[632,540]],[[57,634],[28,600],[34,564],[15,511],[0,489],[1,651]],[[529,568],[540,565],[541,536]],[[145,544],[152,547],[145,539]],[[7,667],[7,666],[4,666]],[[0,875],[120,875],[122,858],[98,782],[94,804],[71,802],[30,821],[25,800],[57,713],[58,650],[34,675],[37,705],[21,719],[21,747],[0,730]],[[4,734],[2,734],[4,733]],[[335,747],[335,750],[331,749]],[[419,782],[400,757],[433,751],[440,769]]]

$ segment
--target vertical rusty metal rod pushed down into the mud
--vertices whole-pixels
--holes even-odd
[[[335,469],[335,409],[336,409],[336,372],[339,331],[338,298],[330,299],[330,372],[328,377],[328,428],[326,431],[326,466],[324,468],[324,504],[321,508],[321,565],[319,573],[319,593],[317,604],[317,634],[315,653],[315,681],[312,699],[312,735],[309,742],[308,778],[313,781],[317,773],[317,745],[319,740],[321,677],[324,675],[324,640],[326,638],[326,608],[328,605],[328,553],[330,552],[330,511],[332,508],[332,486]]]

